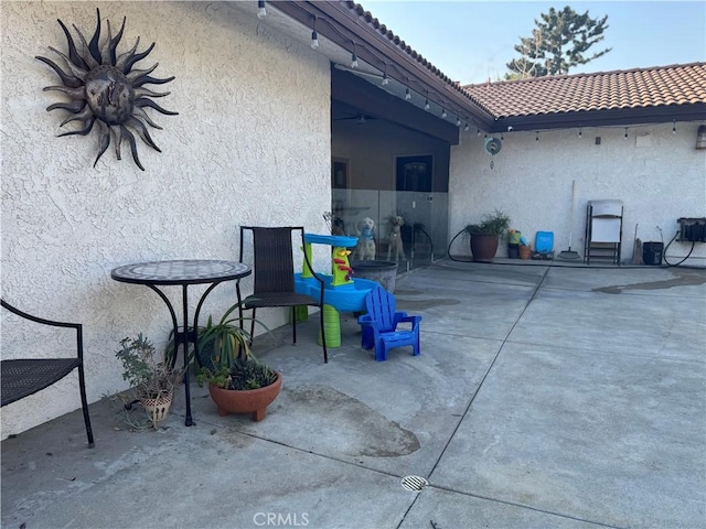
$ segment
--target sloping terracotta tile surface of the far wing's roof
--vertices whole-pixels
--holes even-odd
[[[495,118],[706,104],[706,63],[462,87]]]

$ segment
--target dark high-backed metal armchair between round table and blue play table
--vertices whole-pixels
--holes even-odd
[[[323,293],[324,281],[314,271],[309,262],[309,257],[303,251],[304,228],[301,226],[282,227],[257,227],[240,226],[240,252],[239,261],[244,258],[244,242],[246,231],[252,233],[255,276],[255,287],[253,294],[246,299],[240,298],[240,285],[236,284],[238,302],[242,309],[253,310],[253,321],[250,322],[250,336],[255,331],[255,314],[257,309],[265,306],[289,306],[291,307],[292,341],[297,343],[297,314],[296,307],[301,305],[318,306],[321,319],[321,343],[323,346],[323,361],[329,361],[327,352],[325,333],[323,332]],[[301,235],[301,247],[304,256],[304,266],[311,270],[314,279],[321,287],[321,296],[314,299],[308,294],[295,291],[295,261],[292,234],[299,231]]]

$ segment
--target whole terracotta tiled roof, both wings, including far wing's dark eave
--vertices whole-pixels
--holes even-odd
[[[640,119],[706,119],[706,63],[675,64],[629,71],[538,77],[461,86],[427,58],[413,50],[360,3],[341,0],[355,17],[387,39],[478,110],[485,114],[491,128],[504,118],[532,123],[566,123],[576,112],[633,111]],[[688,107],[688,108],[687,108]],[[650,111],[648,118],[644,111]],[[657,112],[657,114],[655,114]],[[666,116],[666,118],[664,118]],[[480,118],[481,116],[478,115]],[[601,118],[602,119],[602,118]],[[628,121],[625,121],[628,122]]]

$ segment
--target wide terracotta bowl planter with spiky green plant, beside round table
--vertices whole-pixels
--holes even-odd
[[[242,325],[244,319],[231,317],[238,309],[238,304],[233,305],[217,323],[210,316],[206,326],[199,328],[201,369],[196,381],[208,385],[220,415],[253,413],[256,421],[261,421],[281,390],[282,376],[253,355],[250,335]]]

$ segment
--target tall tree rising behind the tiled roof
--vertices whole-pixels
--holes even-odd
[[[550,8],[541,17],[542,21],[534,21],[532,36],[521,37],[520,44],[514,46],[521,58],[506,64],[510,69],[505,74],[506,79],[568,74],[569,68],[611,50],[608,47],[591,56],[585,55],[588,48],[603,40],[608,15],[591,19],[588,11],[579,14],[567,6],[561,11]]]

